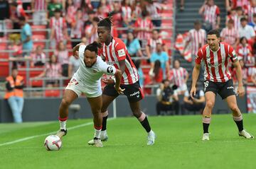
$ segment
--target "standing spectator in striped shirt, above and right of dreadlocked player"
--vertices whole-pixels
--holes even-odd
[[[151,19],[148,18],[148,13],[146,10],[142,11],[142,18],[138,18],[137,21],[134,23],[134,30],[137,33],[137,38],[142,40],[142,47],[146,44],[144,40],[149,40],[151,37],[151,32],[153,29],[153,23]]]

